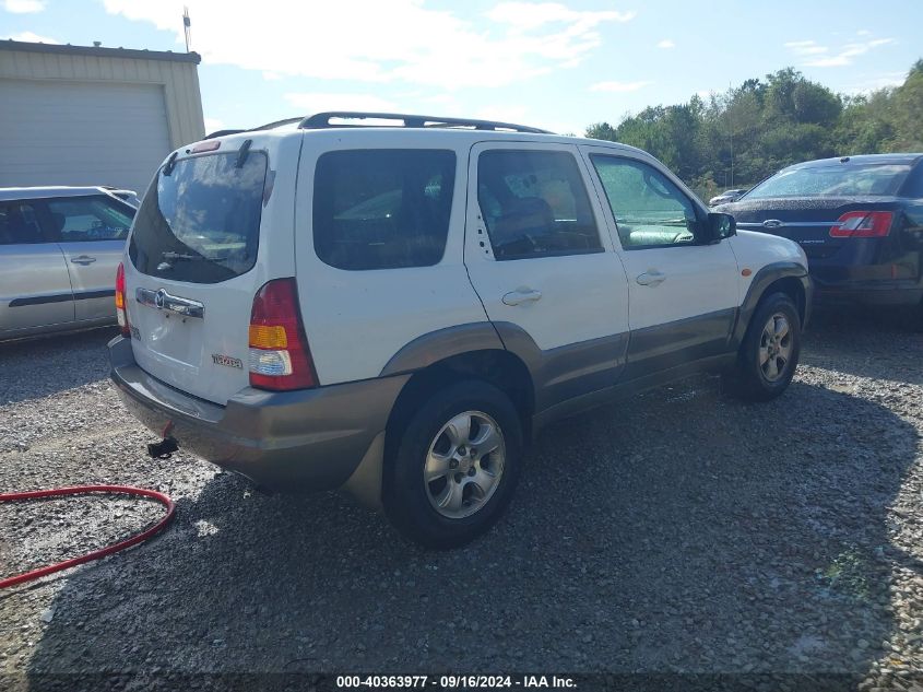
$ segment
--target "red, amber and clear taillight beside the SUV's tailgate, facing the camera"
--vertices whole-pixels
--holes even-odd
[[[263,284],[250,312],[250,385],[261,389],[317,386],[294,279]]]

